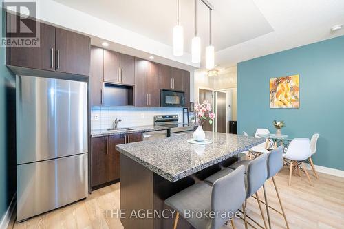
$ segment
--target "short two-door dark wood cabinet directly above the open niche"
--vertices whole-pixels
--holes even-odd
[[[111,50],[104,50],[104,81],[135,84],[135,58]]]

